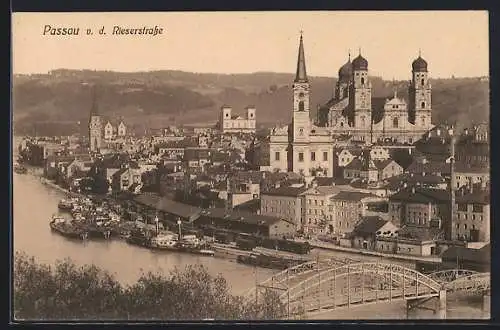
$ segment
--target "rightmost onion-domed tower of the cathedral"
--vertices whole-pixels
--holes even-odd
[[[421,128],[431,128],[431,83],[429,82],[429,72],[427,62],[421,57],[412,63],[412,80],[408,91],[409,108],[408,120]]]

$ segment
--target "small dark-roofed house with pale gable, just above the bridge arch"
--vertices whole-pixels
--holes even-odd
[[[365,216],[350,233],[352,247],[359,249],[376,249],[378,237],[390,237],[398,231],[398,227],[392,222],[379,216]]]

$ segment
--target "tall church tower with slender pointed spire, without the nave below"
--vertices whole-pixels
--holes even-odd
[[[297,71],[295,74],[295,80],[293,81],[293,142],[306,143],[309,141],[309,87],[309,79],[307,79],[306,73],[304,43],[301,33],[299,55],[297,59]]]

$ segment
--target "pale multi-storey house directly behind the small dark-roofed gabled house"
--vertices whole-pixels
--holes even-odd
[[[360,219],[367,215],[368,204],[383,200],[373,194],[341,191],[330,198],[335,212],[335,232],[343,236],[354,230]]]

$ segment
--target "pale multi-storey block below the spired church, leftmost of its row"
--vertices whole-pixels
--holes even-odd
[[[260,214],[285,219],[300,230],[303,224],[303,195],[306,188],[286,187],[269,189],[260,194]]]

